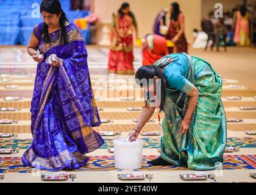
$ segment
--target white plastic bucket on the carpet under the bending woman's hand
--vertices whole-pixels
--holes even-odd
[[[125,142],[123,138],[115,139],[114,155],[115,168],[140,169],[142,161],[143,140]]]

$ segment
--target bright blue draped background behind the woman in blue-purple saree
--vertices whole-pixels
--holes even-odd
[[[69,10],[70,0],[60,0],[62,9],[69,21],[88,16],[88,11]],[[41,0],[0,0],[0,44],[29,44],[34,26],[43,22],[41,18],[32,18],[32,4],[41,4]],[[81,30],[87,44],[91,43],[90,30]]]

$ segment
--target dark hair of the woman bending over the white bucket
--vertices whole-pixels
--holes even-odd
[[[159,68],[158,66],[153,66],[153,65],[149,65],[149,66],[141,66],[136,74],[135,74],[135,81],[137,83],[137,85],[140,85],[140,87],[143,87],[143,79],[147,80],[147,85],[149,86],[150,81],[149,79],[154,79],[154,77],[157,76],[158,79],[161,80],[160,86],[161,86],[161,103],[160,103],[160,112],[163,111],[163,108],[165,106],[165,98],[166,98],[166,78],[165,75],[162,73],[161,68]],[[157,97],[159,97],[159,94],[157,94]],[[145,102],[147,106],[147,99],[150,99],[149,97],[149,93],[148,93],[148,97],[145,97]],[[157,100],[157,102],[159,101],[159,99]]]

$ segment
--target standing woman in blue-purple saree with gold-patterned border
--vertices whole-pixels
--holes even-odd
[[[91,89],[87,49],[59,1],[43,1],[40,11],[44,23],[34,27],[27,48],[38,62],[30,108],[33,140],[22,160],[40,169],[77,169],[87,164],[86,153],[104,143],[92,129],[101,121]],[[57,57],[49,63],[51,54]]]

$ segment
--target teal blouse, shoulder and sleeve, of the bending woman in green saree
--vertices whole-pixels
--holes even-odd
[[[187,56],[181,53],[171,54],[169,57],[173,59],[173,62],[163,69],[169,87],[176,88],[186,94],[189,93],[193,83],[185,78],[189,65]]]

